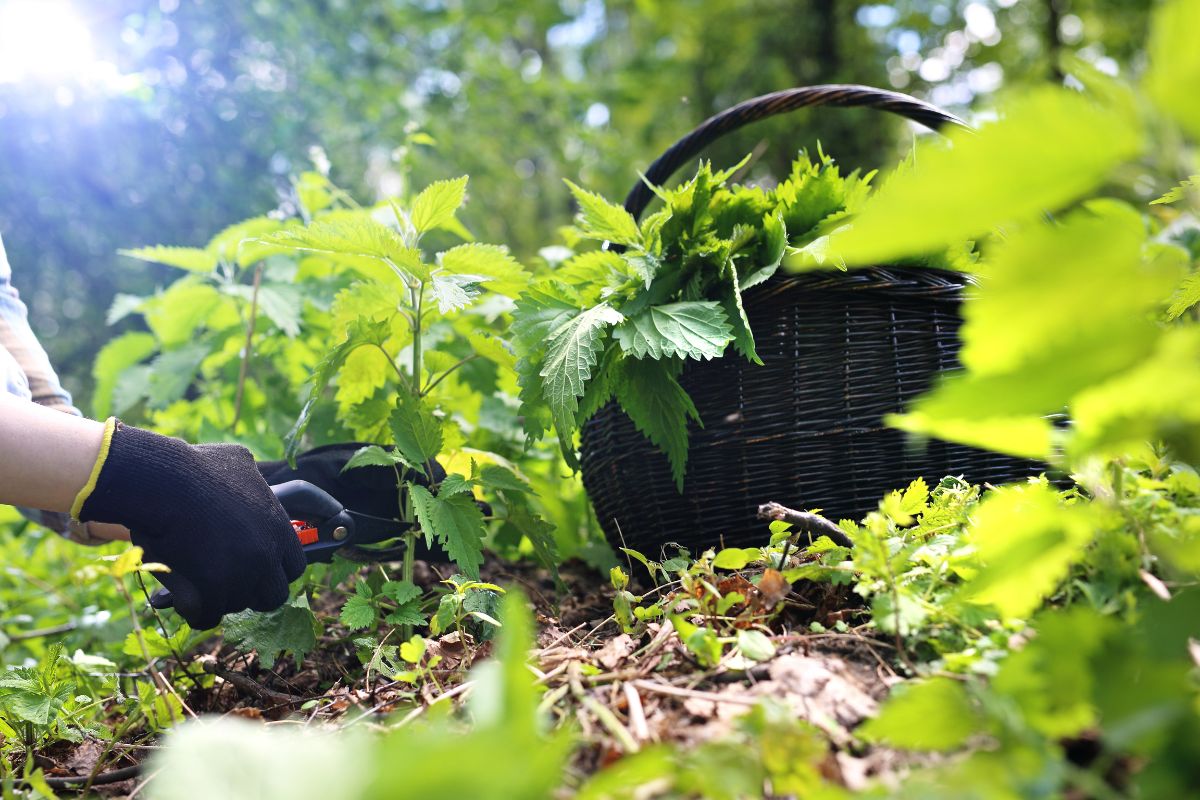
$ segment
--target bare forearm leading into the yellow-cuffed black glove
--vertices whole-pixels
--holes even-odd
[[[71,511],[103,437],[101,422],[0,393],[0,503]]]

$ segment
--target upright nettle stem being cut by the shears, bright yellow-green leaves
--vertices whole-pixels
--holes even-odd
[[[527,503],[530,487],[504,459],[480,452],[460,469],[450,465],[443,473],[438,465],[449,447],[463,441],[448,404],[439,403],[452,395],[439,396],[438,390],[479,359],[510,363],[504,343],[486,331],[528,282],[528,273],[500,246],[468,242],[436,254],[421,249],[430,231],[458,228],[455,212],[466,190],[467,178],[460,178],[431,185],[408,211],[389,203],[389,224],[371,212],[346,211],[259,240],[320,253],[370,276],[334,301],[341,342],[317,365],[287,452],[292,457],[300,449],[313,409],[335,379],[340,410],[373,427],[372,439],[392,445],[362,447],[346,468],[396,469],[401,522],[410,527],[402,582],[389,596],[396,595],[402,609],[415,599],[413,552],[419,536],[428,547],[440,546],[468,577],[479,577],[486,518],[476,488],[498,497],[503,519],[530,539],[547,565],[556,560],[547,525]],[[472,313],[463,313],[468,308]],[[414,614],[402,616],[406,626],[416,621]]]

